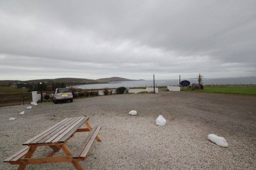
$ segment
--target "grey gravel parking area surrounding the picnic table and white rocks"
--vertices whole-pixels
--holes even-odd
[[[3,160],[30,138],[67,117],[90,116],[102,125],[84,169],[256,169],[256,97],[160,91],[75,99],[73,103],[39,103],[0,108],[0,169],[17,169]],[[135,110],[137,115],[129,115]],[[24,115],[19,115],[25,111]],[[157,126],[162,115],[165,126]],[[15,120],[9,121],[10,117]],[[83,125],[84,126],[84,125]],[[82,127],[83,127],[82,126]],[[67,145],[76,152],[88,132],[76,133]],[[226,139],[224,148],[208,134]],[[38,147],[33,157],[45,157]],[[62,151],[55,154],[64,155]],[[54,155],[54,156],[55,156]],[[70,162],[27,165],[26,170],[73,170]]]

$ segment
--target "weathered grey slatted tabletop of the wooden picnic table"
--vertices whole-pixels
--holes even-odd
[[[53,125],[41,134],[26,141],[22,145],[39,145],[64,143],[78,130],[89,117],[66,118],[59,123]]]

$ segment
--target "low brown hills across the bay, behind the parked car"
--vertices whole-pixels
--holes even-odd
[[[142,80],[142,79],[141,79]],[[38,79],[38,80],[0,80],[0,84],[9,84],[9,83],[37,83],[37,82],[64,82],[65,84],[96,84],[96,83],[109,83],[113,81],[138,81],[131,80],[121,77],[110,77],[110,78],[102,78],[102,79],[80,79],[80,78],[57,78],[57,79]]]

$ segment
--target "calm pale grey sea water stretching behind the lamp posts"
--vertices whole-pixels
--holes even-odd
[[[181,79],[182,80],[188,80],[190,83],[198,83],[197,79]],[[156,80],[155,84],[157,86],[173,86],[173,85],[179,85],[178,79],[172,79],[172,80]],[[244,77],[244,78],[218,78],[218,79],[203,79],[203,84],[256,84],[256,77]],[[142,80],[142,81],[121,81],[121,82],[112,82],[107,84],[88,84],[88,85],[79,85],[75,86],[79,89],[102,89],[105,87],[108,88],[117,88],[117,87],[150,87],[154,86],[153,80]]]

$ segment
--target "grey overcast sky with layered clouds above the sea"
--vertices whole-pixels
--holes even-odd
[[[255,0],[0,0],[0,80],[255,76]]]

